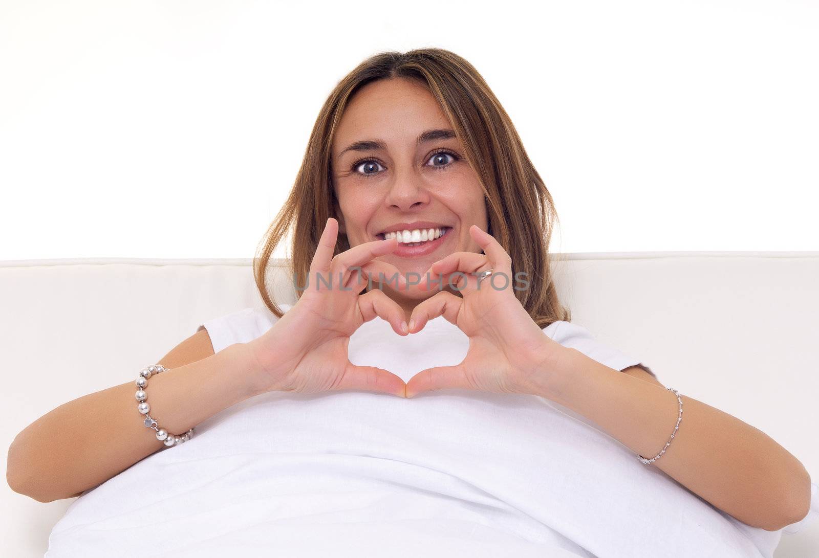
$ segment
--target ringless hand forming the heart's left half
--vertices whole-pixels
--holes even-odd
[[[362,389],[405,397],[400,377],[378,367],[356,366],[347,356],[350,336],[376,316],[390,322],[398,335],[408,334],[403,309],[382,290],[360,295],[368,274],[375,283],[380,272],[387,281],[397,274],[399,288],[405,288],[405,278],[395,266],[374,260],[395,250],[398,241],[366,242],[333,257],[337,236],[338,222],[329,218],[301,298],[264,335],[248,343],[259,362],[260,393]],[[360,271],[350,269],[355,267]],[[319,275],[324,281],[318,281]]]

